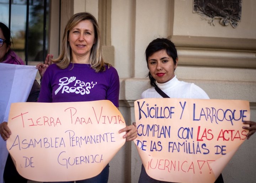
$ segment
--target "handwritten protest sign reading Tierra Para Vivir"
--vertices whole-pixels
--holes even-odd
[[[94,177],[125,143],[125,121],[108,100],[13,103],[8,126],[17,171],[35,181]]]

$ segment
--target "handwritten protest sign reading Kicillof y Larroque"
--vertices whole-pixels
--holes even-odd
[[[248,101],[141,99],[134,140],[146,173],[160,181],[214,182],[246,139]]]

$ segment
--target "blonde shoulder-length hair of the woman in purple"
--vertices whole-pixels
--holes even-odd
[[[105,66],[110,67],[110,64],[105,63],[102,56],[100,30],[97,20],[93,15],[88,12],[76,13],[73,15],[66,24],[63,39],[62,39],[62,52],[57,59],[53,59],[59,68],[67,68],[72,60],[71,47],[68,41],[69,32],[82,20],[90,20],[94,26],[95,43],[92,45],[89,63],[95,72],[105,71]]]

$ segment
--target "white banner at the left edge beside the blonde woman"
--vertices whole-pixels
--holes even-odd
[[[11,103],[27,100],[36,73],[35,66],[0,63],[0,123],[8,120]],[[6,142],[0,138],[0,183],[4,182],[7,155]]]

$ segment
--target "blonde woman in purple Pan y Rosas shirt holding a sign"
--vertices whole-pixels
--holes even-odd
[[[90,13],[73,15],[66,24],[62,53],[53,60],[42,79],[38,102],[76,102],[110,100],[119,107],[119,76],[102,56],[98,23]],[[130,125],[119,133],[127,141],[137,137],[137,129]],[[108,181],[109,166],[96,177],[76,181]],[[74,182],[74,181],[73,181]]]

